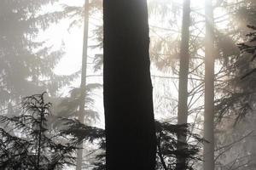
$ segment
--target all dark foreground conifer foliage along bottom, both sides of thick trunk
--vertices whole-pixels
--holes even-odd
[[[77,119],[59,117],[59,125],[50,128],[51,104],[44,94],[35,94],[22,100],[19,116],[0,116],[1,150],[0,167],[9,169],[58,169],[74,166],[76,150],[84,141],[94,144],[93,161],[90,167],[106,169],[105,131],[90,127]],[[10,127],[12,130],[6,130]],[[156,128],[156,169],[175,169],[176,157],[188,157],[187,169],[193,169],[196,161],[201,161],[202,139],[190,133],[189,125],[173,125],[168,122],[155,122]],[[177,133],[186,133],[189,143],[185,150],[177,150]],[[125,146],[124,146],[125,147]],[[134,153],[136,154],[136,153]],[[86,156],[85,156],[86,158]]]

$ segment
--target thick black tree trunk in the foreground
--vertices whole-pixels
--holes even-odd
[[[154,170],[146,0],[105,0],[103,23],[107,170]]]

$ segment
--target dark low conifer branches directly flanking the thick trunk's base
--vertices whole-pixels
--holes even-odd
[[[90,141],[97,145],[98,150],[95,151],[94,158],[90,163],[94,166],[94,170],[105,169],[106,145],[104,130],[98,127],[85,126],[78,120],[63,118],[61,121],[65,122],[64,125],[67,127],[63,129],[61,133],[73,136],[73,144],[79,144],[82,141]],[[156,169],[174,170],[177,154],[188,157],[187,169],[194,169],[195,162],[201,161],[199,154],[203,139],[201,139],[199,135],[191,133],[188,128],[189,125],[172,125],[168,122],[156,121],[155,126],[158,141]],[[177,150],[177,133],[188,134],[189,143],[186,150]]]

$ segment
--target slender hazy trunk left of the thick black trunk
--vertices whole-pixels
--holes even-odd
[[[83,44],[83,56],[82,56],[82,72],[81,72],[81,96],[79,104],[79,121],[84,123],[84,107],[85,107],[85,94],[86,94],[86,69],[87,69],[87,48],[88,48],[88,28],[89,28],[89,0],[84,2],[84,44]],[[83,143],[79,145],[83,148]],[[78,150],[77,153],[77,166],[76,170],[81,170],[83,166],[83,149]]]

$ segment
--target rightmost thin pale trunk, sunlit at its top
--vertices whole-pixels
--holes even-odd
[[[214,170],[214,20],[212,0],[205,0],[205,113],[204,113],[204,170]]]

